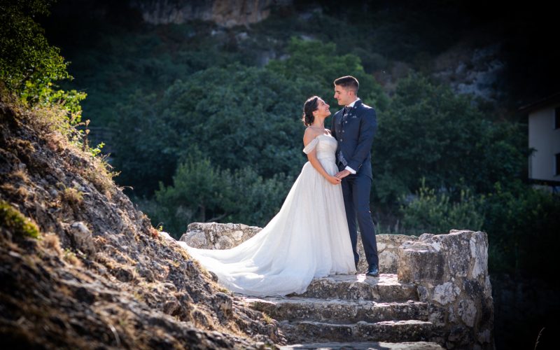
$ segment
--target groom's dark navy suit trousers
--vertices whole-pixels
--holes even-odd
[[[370,212],[370,190],[372,179],[365,174],[350,174],[342,179],[342,195],[344,197],[344,209],[350,232],[350,241],[354,253],[356,265],[360,256],[356,244],[358,243],[358,232],[356,231],[356,216],[362,236],[365,252],[365,260],[368,265],[379,266],[377,256],[377,240],[375,239],[375,227]]]

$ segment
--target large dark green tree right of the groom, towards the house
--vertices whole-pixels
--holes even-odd
[[[414,193],[423,178],[453,199],[463,188],[489,193],[524,167],[517,125],[489,121],[468,96],[421,75],[399,80],[378,121],[372,160],[376,198],[384,204]]]

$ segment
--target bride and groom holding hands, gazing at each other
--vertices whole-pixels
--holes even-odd
[[[372,107],[358,98],[353,76],[334,81],[343,109],[324,126],[329,105],[307,99],[303,123],[306,162],[280,211],[247,241],[225,250],[198,249],[179,242],[235,293],[272,296],[304,293],[311,280],[356,274],[360,227],[366,274],[379,276],[375,229],[370,213],[371,148],[377,130]]]

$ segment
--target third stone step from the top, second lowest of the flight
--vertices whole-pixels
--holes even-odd
[[[334,324],[316,321],[279,323],[290,343],[309,342],[426,342],[433,323],[419,320]]]

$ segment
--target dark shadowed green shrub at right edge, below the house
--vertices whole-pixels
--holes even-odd
[[[496,183],[486,197],[483,229],[489,237],[491,271],[549,276],[560,228],[560,198],[521,181]]]

